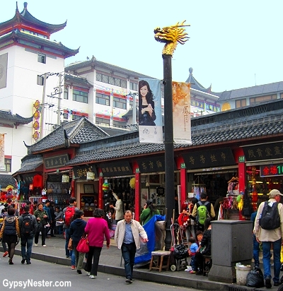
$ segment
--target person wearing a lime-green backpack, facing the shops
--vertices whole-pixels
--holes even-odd
[[[190,218],[197,221],[197,230],[204,231],[204,221],[207,218],[214,218],[215,212],[212,203],[207,201],[207,194],[202,192],[200,194],[200,201],[195,203],[194,209],[192,210],[192,215]]]

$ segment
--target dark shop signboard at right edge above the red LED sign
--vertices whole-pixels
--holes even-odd
[[[283,158],[283,143],[265,143],[244,146],[243,152],[247,162],[258,160],[275,160]]]

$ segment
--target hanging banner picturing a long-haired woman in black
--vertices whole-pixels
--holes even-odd
[[[161,81],[139,78],[139,142],[163,143]]]

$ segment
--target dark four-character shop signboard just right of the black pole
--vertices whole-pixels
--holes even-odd
[[[182,155],[187,170],[236,165],[231,148],[216,148]]]

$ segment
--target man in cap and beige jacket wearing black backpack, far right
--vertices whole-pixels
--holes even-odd
[[[253,233],[257,241],[262,242],[262,263],[265,277],[265,287],[271,288],[270,249],[273,246],[274,278],[275,286],[279,286],[280,275],[280,251],[283,235],[283,205],[280,202],[279,190],[273,189],[268,194],[269,200],[260,203],[258,213],[255,216]]]

